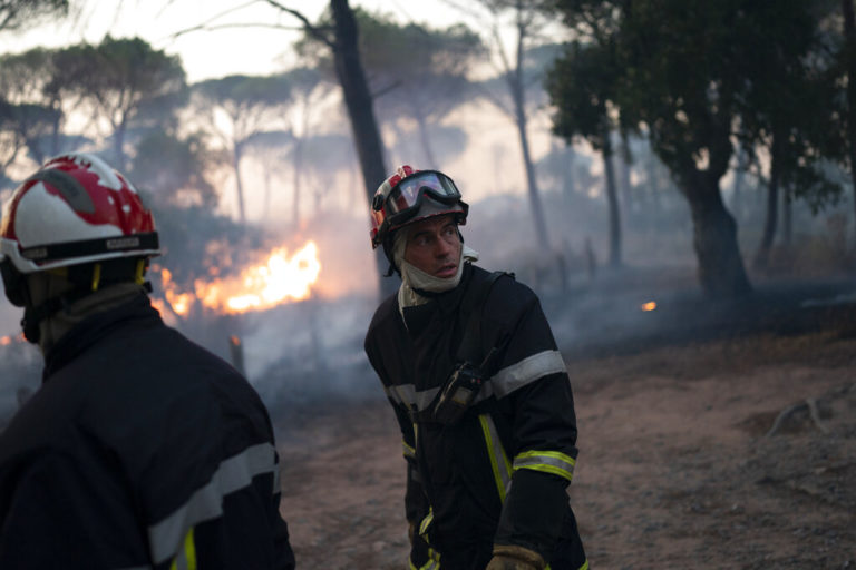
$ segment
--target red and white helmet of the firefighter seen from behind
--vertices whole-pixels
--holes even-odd
[[[0,262],[22,273],[160,253],[136,188],[86,153],[52,158],[12,194],[0,223]]]

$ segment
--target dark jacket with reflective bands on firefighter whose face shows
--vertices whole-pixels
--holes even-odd
[[[366,337],[403,436],[406,517],[418,534],[410,566],[483,570],[497,543],[532,549],[552,570],[587,568],[566,492],[577,454],[573,396],[532,289],[509,276],[493,284],[479,344],[483,354],[500,348],[496,365],[457,423],[431,421],[489,275],[467,264],[456,288],[403,316],[391,296]]]

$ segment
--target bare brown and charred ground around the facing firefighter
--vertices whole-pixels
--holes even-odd
[[[544,303],[574,386],[570,499],[592,568],[856,568],[849,283],[714,304],[691,286],[654,295],[660,279],[675,282]],[[299,568],[405,568],[403,460],[380,389],[280,417]]]

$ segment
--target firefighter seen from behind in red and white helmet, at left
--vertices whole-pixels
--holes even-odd
[[[0,568],[293,569],[268,412],[150,305],[158,236],[134,186],[51,159],[7,204],[0,253],[45,358],[0,434]]]

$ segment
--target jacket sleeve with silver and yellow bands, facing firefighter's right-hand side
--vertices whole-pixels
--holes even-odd
[[[571,383],[537,297],[514,318],[498,371],[497,400],[510,414],[512,485],[495,535],[548,558],[567,512],[567,485],[576,464],[576,417]],[[518,295],[519,298],[519,295]],[[502,315],[498,308],[497,313]],[[503,327],[497,327],[502,330]],[[510,458],[509,458],[510,459]]]

